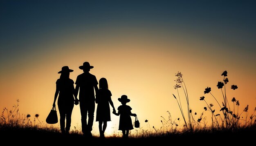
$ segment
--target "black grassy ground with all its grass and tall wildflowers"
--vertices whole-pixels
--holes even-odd
[[[60,129],[57,127],[47,126],[43,122],[40,122],[39,115],[34,116],[34,120],[31,120],[31,115],[20,115],[17,104],[12,106],[12,109],[4,108],[2,115],[0,116],[0,137],[1,143],[6,144],[22,144],[30,143],[34,144],[94,144],[94,145],[152,145],[152,144],[250,144],[256,133],[256,116],[254,113],[248,117],[248,106],[239,113],[239,101],[235,98],[231,100],[227,99],[226,84],[227,71],[223,72],[223,81],[218,82],[217,87],[221,90],[223,95],[222,105],[211,94],[211,88],[205,88],[204,94],[209,94],[210,97],[216,100],[218,106],[213,108],[213,104],[208,104],[204,96],[199,98],[199,102],[205,102],[206,106],[202,107],[204,111],[200,117],[195,120],[189,105],[189,96],[184,85],[184,80],[181,73],[177,73],[178,84],[175,85],[178,96],[175,97],[177,104],[184,120],[184,127],[180,126],[181,119],[173,120],[171,113],[168,113],[168,119],[162,117],[162,126],[160,128],[150,127],[144,130],[142,128],[136,128],[133,133],[130,133],[128,139],[121,138],[119,133],[113,134],[106,139],[99,138],[99,135],[88,139],[83,137],[81,130],[74,128],[70,131],[69,135],[62,135]],[[223,88],[224,87],[224,88]],[[180,102],[181,94],[178,92],[178,88],[183,88],[184,96],[186,98],[186,110]],[[222,90],[223,88],[223,90]],[[231,89],[237,89],[236,85],[231,85]],[[229,104],[229,101],[232,103]],[[231,110],[232,107],[232,110]],[[185,112],[184,112],[185,111]],[[215,111],[220,111],[217,113]],[[204,112],[211,113],[211,124],[206,125],[202,121],[204,120]],[[240,115],[246,113],[246,118],[240,119]]]

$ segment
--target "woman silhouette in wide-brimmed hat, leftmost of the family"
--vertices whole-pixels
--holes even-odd
[[[74,81],[70,79],[70,72],[68,66],[63,66],[60,78],[56,81],[56,91],[54,95],[54,102],[52,106],[56,106],[55,102],[58,96],[58,110],[60,113],[61,133],[68,134],[71,126],[71,114],[74,108]],[[66,128],[65,128],[66,119]]]

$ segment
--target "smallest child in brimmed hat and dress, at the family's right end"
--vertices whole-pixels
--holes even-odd
[[[131,113],[132,108],[128,105],[126,105],[127,102],[130,102],[130,100],[127,98],[126,95],[122,95],[121,98],[118,98],[118,101],[121,102],[121,106],[117,108],[118,113],[113,111],[113,114],[119,116],[119,129],[123,132],[123,138],[128,138],[129,130],[133,129],[132,126],[132,119],[130,116],[136,116],[135,113]]]

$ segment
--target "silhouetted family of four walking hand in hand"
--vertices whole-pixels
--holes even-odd
[[[96,103],[96,122],[99,122],[100,137],[105,138],[104,133],[107,127],[107,122],[111,121],[110,106],[112,106],[112,113],[120,116],[118,130],[122,131],[123,138],[128,138],[129,131],[133,129],[130,116],[136,116],[135,113],[131,113],[132,108],[126,105],[130,102],[130,99],[128,99],[126,95],[122,95],[121,98],[118,98],[121,105],[117,108],[118,112],[116,112],[111,99],[112,93],[108,89],[107,79],[102,77],[98,83],[96,76],[89,73],[90,69],[93,68],[94,66],[91,66],[89,62],[84,62],[82,66],[79,66],[79,69],[83,70],[83,73],[76,77],[76,82],[70,79],[70,72],[73,72],[74,70],[69,69],[68,66],[63,66],[61,71],[58,72],[61,75],[56,81],[56,91],[52,106],[56,106],[55,103],[58,97],[57,104],[60,113],[61,133],[69,134],[74,104],[79,104],[83,135],[85,137],[93,137],[91,131]],[[75,88],[74,84],[76,84]],[[79,98],[77,97],[78,93]]]

